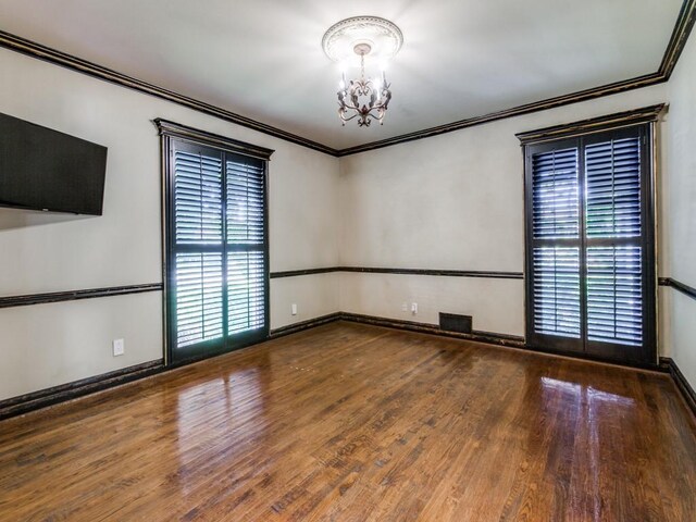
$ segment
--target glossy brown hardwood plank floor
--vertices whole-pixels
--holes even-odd
[[[0,423],[0,520],[693,521],[668,376],[332,323]]]

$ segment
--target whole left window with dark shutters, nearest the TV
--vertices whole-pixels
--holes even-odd
[[[167,361],[268,336],[268,149],[171,122],[165,179]]]

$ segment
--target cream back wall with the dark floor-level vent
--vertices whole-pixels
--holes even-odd
[[[522,272],[514,135],[664,101],[657,85],[341,158],[341,264]],[[402,311],[413,300],[417,315]],[[464,313],[475,330],[524,335],[520,279],[347,273],[340,308],[424,323],[437,323],[440,311]]]

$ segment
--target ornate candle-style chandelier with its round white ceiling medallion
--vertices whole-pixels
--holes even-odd
[[[339,62],[341,78],[338,89],[338,116],[341,124],[358,119],[358,125],[369,127],[372,119],[383,124],[389,100],[390,84],[387,83],[384,66],[394,58],[403,35],[391,22],[377,16],[353,16],[334,24],[322,38],[326,55]],[[382,74],[365,77],[365,58],[381,65]],[[346,69],[360,67],[360,77],[346,82]]]

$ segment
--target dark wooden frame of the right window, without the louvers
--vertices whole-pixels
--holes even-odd
[[[629,363],[633,365],[654,366],[658,363],[658,323],[657,323],[657,246],[656,246],[656,176],[657,176],[657,121],[660,113],[664,109],[664,104],[651,105],[648,108],[637,109],[608,116],[575,122],[567,125],[558,125],[547,127],[539,130],[529,133],[520,133],[517,137],[520,139],[524,159],[524,278],[525,278],[525,340],[530,348],[539,351],[548,351],[556,353],[572,355],[574,357],[583,357],[589,359],[608,360],[614,362]],[[645,295],[644,302],[644,320],[643,320],[643,346],[639,347],[635,357],[626,357],[626,351],[634,347],[626,345],[614,345],[610,343],[593,341],[587,338],[587,312],[586,287],[583,282],[586,277],[586,252],[588,241],[586,238],[586,202],[585,188],[586,175],[584,166],[585,146],[596,140],[602,139],[609,135],[624,135],[625,133],[635,133],[635,127],[641,127],[641,194],[642,209],[641,215],[643,220],[643,233],[641,245],[644,247],[642,252],[643,262],[643,288]],[[576,340],[567,341],[563,338],[558,341],[548,343],[548,338],[535,334],[534,331],[534,281],[533,274],[533,245],[536,243],[533,238],[532,231],[532,149],[534,153],[540,150],[560,150],[562,146],[576,144],[579,153],[579,184],[580,184],[580,275],[581,275],[581,339],[582,349],[574,348]],[[601,243],[598,241],[598,243]],[[544,338],[540,338],[544,337]],[[550,346],[549,346],[550,345]],[[627,350],[626,350],[627,348]]]

